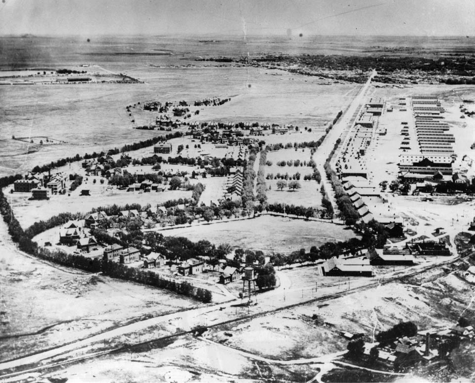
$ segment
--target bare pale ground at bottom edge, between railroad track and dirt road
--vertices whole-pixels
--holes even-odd
[[[134,363],[131,363],[134,362]],[[161,342],[147,351],[97,356],[35,377],[67,378],[71,383],[258,382],[262,374],[286,382],[302,382],[316,375],[314,366],[276,366],[248,358],[221,344],[185,336]],[[307,380],[305,379],[305,381]]]

